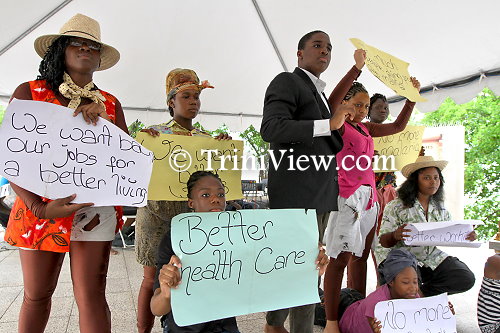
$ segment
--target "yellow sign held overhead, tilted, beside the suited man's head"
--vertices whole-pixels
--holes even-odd
[[[366,51],[366,67],[396,94],[404,96],[412,102],[427,101],[420,96],[418,90],[411,83],[408,73],[409,63],[370,46],[360,39],[351,38],[350,41],[356,48]]]

